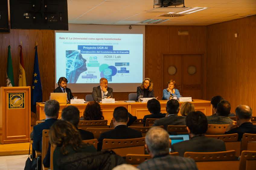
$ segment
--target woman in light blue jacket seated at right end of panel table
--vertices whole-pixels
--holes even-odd
[[[173,95],[176,95],[178,99],[181,97],[180,92],[175,88],[175,85],[176,82],[174,80],[168,82],[168,88],[163,90],[163,100],[172,99]]]

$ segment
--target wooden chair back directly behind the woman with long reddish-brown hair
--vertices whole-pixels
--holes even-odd
[[[109,128],[107,120],[80,120],[78,128],[86,130],[87,128]]]

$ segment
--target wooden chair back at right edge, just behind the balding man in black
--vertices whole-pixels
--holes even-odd
[[[243,134],[241,151],[243,150],[256,150],[256,134]]]

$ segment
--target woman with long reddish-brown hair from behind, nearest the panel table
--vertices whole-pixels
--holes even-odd
[[[80,120],[104,120],[101,105],[96,101],[90,101],[85,107],[84,115]]]

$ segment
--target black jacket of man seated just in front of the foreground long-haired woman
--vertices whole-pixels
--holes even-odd
[[[94,139],[93,137],[93,133],[89,132],[89,131],[85,131],[82,129],[78,129],[78,131],[81,134],[81,138],[82,140],[90,140],[90,139]],[[50,158],[51,158],[51,144],[49,143],[49,147],[46,153],[45,158],[43,159],[43,165],[45,167],[50,167]]]

